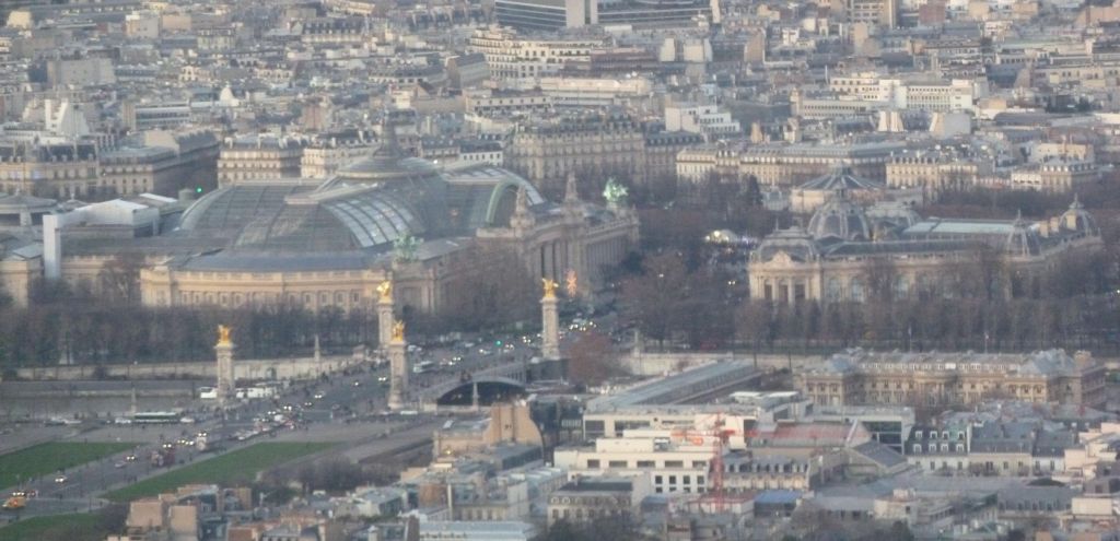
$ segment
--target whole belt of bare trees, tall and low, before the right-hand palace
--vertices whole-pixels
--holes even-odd
[[[1118,347],[1120,307],[1107,253],[1071,253],[1034,274],[1009,270],[998,253],[944,264],[930,283],[904,282],[871,259],[861,301],[843,298],[749,300],[745,287],[708,268],[689,271],[676,254],[651,256],[620,290],[624,317],[663,345],[809,349]]]

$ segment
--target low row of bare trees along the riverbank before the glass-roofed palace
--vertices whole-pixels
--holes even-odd
[[[306,354],[316,335],[328,351],[376,341],[376,317],[362,310],[147,308],[80,299],[0,309],[0,366],[208,360],[218,324],[233,326],[237,355],[245,358]]]

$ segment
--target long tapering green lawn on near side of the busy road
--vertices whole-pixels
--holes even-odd
[[[138,497],[155,496],[192,483],[216,483],[231,486],[253,481],[258,473],[321,451],[329,442],[262,442],[239,449],[174,472],[158,475],[134,485],[113,491],[105,497],[128,502]]]

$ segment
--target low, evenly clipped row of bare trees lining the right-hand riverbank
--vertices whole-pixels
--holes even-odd
[[[1120,326],[1114,299],[978,298],[898,302],[748,301],[728,339],[754,349],[1025,351],[1046,347],[1116,348]]]

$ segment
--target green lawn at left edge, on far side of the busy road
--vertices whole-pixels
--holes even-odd
[[[131,449],[136,444],[55,441],[0,455],[0,488]],[[17,481],[17,476],[18,479]]]

